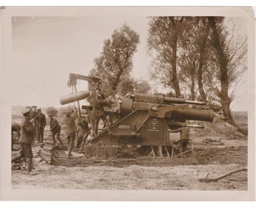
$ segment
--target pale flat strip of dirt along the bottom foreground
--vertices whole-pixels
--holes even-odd
[[[161,189],[161,190],[246,190],[247,173],[228,176],[218,182],[199,182],[199,177],[211,173],[219,175],[238,164],[176,166],[176,167],[73,167],[36,166],[35,176],[13,172],[13,188],[78,188],[78,189]]]

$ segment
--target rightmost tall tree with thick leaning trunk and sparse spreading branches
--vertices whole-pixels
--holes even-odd
[[[223,26],[220,17],[207,17],[211,27],[211,41],[214,48],[212,69],[218,83],[213,86],[214,93],[219,97],[220,104],[228,123],[236,126],[231,117],[230,103],[234,99],[234,90],[243,72],[247,69],[245,55],[247,53],[247,38],[241,40],[237,35],[234,40],[234,30],[231,35]],[[232,85],[233,89],[230,89]],[[229,90],[231,93],[229,94]]]

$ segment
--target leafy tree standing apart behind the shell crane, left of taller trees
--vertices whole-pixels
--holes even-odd
[[[95,58],[90,76],[102,79],[105,92],[116,91],[119,82],[130,76],[138,43],[139,35],[126,24],[115,29],[110,39],[104,40],[103,51]]]

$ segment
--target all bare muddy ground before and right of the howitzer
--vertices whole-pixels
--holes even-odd
[[[45,137],[47,135],[46,131]],[[178,137],[179,134],[172,134],[172,138]],[[166,158],[155,158],[121,163],[109,161],[100,166],[66,167],[46,164],[35,155],[34,171],[38,174],[30,176],[25,174],[26,170],[12,170],[12,185],[13,188],[29,189],[247,189],[247,172],[235,173],[217,182],[199,181],[208,173],[209,176],[217,176],[232,169],[247,167],[246,138],[234,139],[219,134],[194,135],[191,138],[188,148],[193,151],[168,161],[164,161]],[[209,140],[217,143],[209,143]],[[12,152],[13,155],[15,153]]]

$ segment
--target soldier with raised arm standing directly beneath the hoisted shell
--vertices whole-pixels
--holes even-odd
[[[65,124],[66,124],[66,133],[67,133],[67,144],[68,144],[68,154],[67,158],[71,158],[73,155],[72,150],[74,147],[75,133],[77,132],[77,127],[75,126],[75,119],[77,119],[78,115],[75,113],[73,116],[71,114],[74,113],[72,110],[66,112]]]

